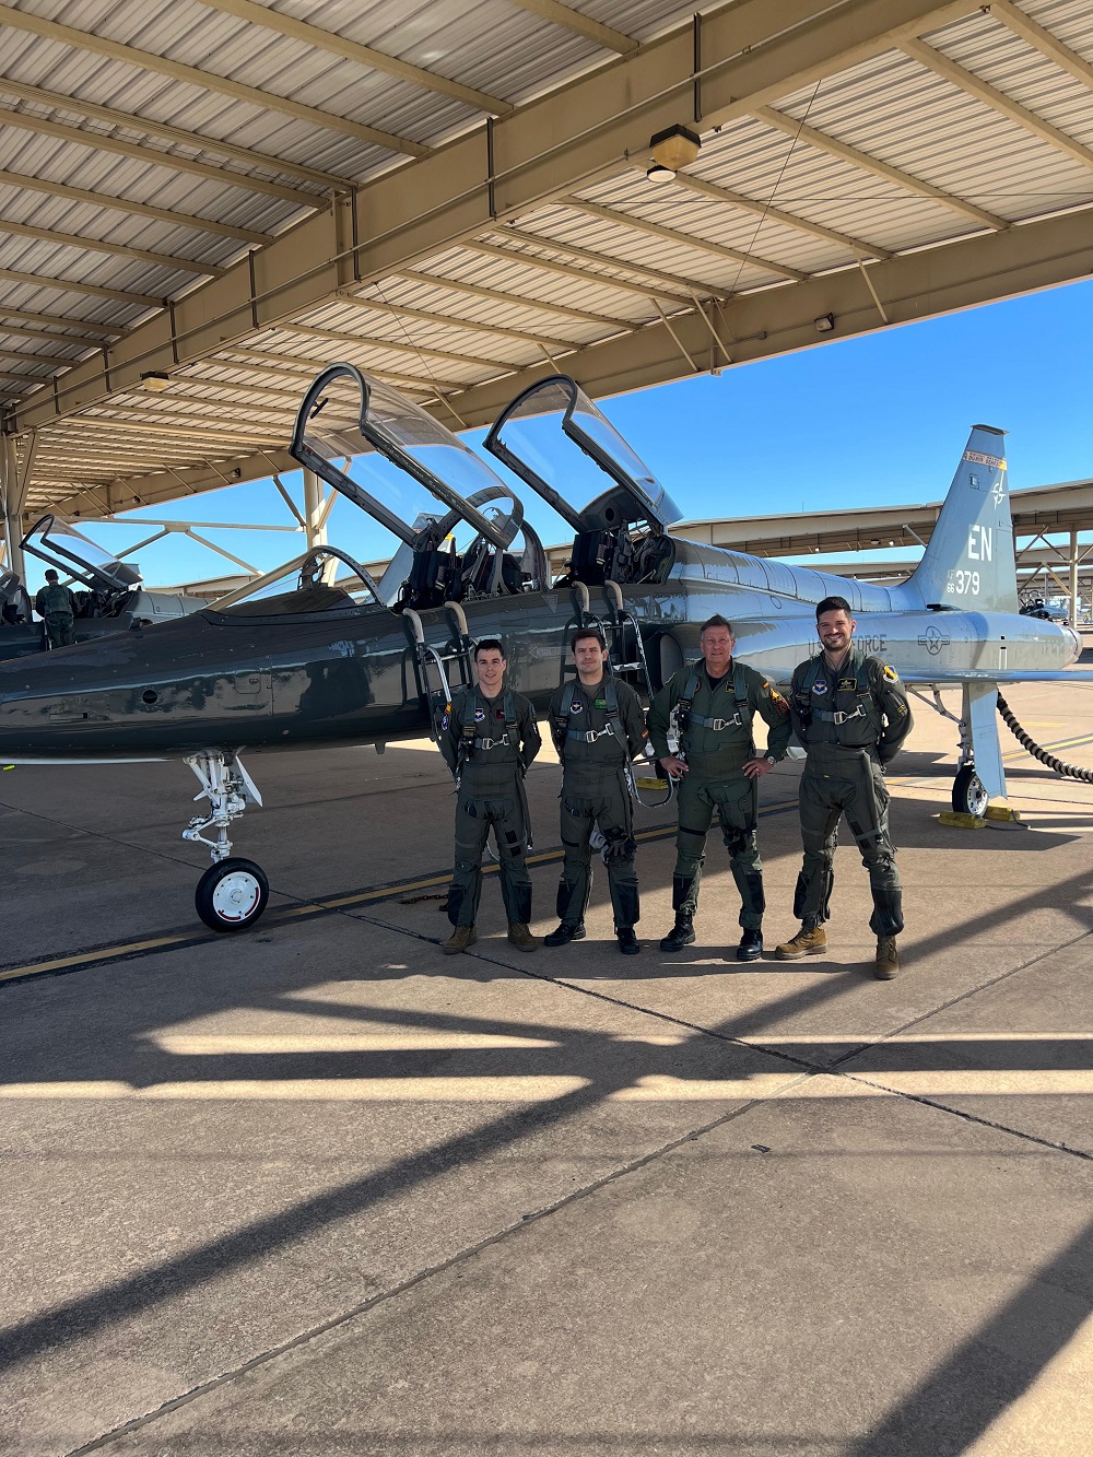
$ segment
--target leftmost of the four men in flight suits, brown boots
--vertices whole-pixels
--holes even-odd
[[[530,825],[523,777],[542,746],[535,710],[504,680],[509,661],[498,638],[475,647],[477,686],[458,688],[444,710],[440,752],[456,779],[455,873],[447,892],[452,935],[447,956],[478,940],[475,921],[482,895],[482,854],[493,829],[501,873],[509,940],[533,951],[532,877],[528,871]]]

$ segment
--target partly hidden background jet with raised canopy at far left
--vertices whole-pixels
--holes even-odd
[[[118,561],[74,526],[42,516],[23,536],[22,549],[55,567],[76,597],[73,629],[77,643],[150,627],[197,612],[204,603],[173,592],[149,592],[140,571]],[[31,618],[26,589],[15,576],[0,574],[0,659],[25,657],[48,647],[45,628]]]

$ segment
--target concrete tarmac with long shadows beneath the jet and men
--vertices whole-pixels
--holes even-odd
[[[1093,768],[1093,686],[1011,689]],[[1025,828],[893,766],[908,928],[781,963],[797,768],[762,785],[768,956],[711,835],[698,943],[641,813],[640,957],[444,957],[427,743],[255,755],[267,918],[205,932],[181,765],[0,774],[0,1453],[1077,1457],[1093,1432],[1093,787],[1003,733]],[[558,771],[532,769],[536,924]],[[399,886],[402,889],[399,889]]]

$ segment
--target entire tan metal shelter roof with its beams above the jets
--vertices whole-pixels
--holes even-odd
[[[335,358],[459,428],[1093,268],[1087,0],[16,0],[0,55],[12,526],[293,469]]]

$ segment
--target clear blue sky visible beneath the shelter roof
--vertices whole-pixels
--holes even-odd
[[[564,366],[563,366],[564,367]],[[727,369],[602,402],[686,519],[940,500],[969,427],[1010,433],[1013,490],[1093,476],[1093,281]],[[469,437],[481,439],[481,431]],[[299,472],[283,478],[300,498]],[[522,491],[525,500],[529,491]],[[149,535],[141,516],[289,523],[270,482],[85,527],[111,549]],[[549,514],[544,536],[563,539]],[[340,501],[329,539],[383,548]],[[535,514],[529,511],[535,522]],[[208,532],[261,568],[302,549],[281,533]],[[181,536],[138,554],[146,581],[235,568]],[[28,564],[29,565],[29,564]],[[32,574],[34,580],[34,574]]]

